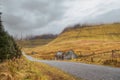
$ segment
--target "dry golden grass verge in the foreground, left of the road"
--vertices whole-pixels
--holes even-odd
[[[0,64],[0,80],[77,80],[61,70],[25,58]]]

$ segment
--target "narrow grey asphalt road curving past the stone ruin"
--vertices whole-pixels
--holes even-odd
[[[120,68],[76,62],[38,60],[25,53],[23,55],[30,61],[46,63],[84,80],[120,80]]]

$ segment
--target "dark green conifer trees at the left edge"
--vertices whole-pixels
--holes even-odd
[[[2,25],[0,13],[0,62],[6,59],[20,58],[22,53],[12,36],[10,36]]]

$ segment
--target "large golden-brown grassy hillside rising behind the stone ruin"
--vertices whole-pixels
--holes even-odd
[[[65,29],[55,40],[47,45],[26,48],[25,51],[28,54],[31,51],[36,51],[38,54],[33,55],[34,57],[54,59],[57,51],[66,52],[70,49],[74,50],[79,56],[120,50],[119,30],[119,23],[70,27]],[[105,57],[105,59],[108,58]]]

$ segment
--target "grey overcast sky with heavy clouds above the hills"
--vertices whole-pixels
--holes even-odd
[[[14,36],[57,34],[78,23],[120,22],[120,0],[0,0],[0,11]]]

